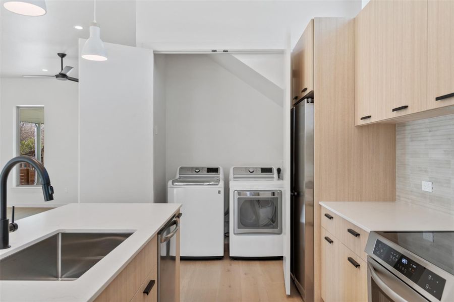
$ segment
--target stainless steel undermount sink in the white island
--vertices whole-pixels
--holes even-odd
[[[57,233],[0,260],[0,280],[75,280],[132,234]]]

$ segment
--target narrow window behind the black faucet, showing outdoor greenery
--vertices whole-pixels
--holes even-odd
[[[44,164],[44,107],[18,107],[17,155],[31,156]],[[41,185],[32,166],[18,165],[18,186]]]

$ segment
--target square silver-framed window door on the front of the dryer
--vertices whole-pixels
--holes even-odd
[[[282,192],[235,191],[236,235],[282,234]]]

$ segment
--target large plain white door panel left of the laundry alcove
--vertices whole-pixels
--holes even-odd
[[[153,53],[104,46],[79,60],[80,202],[152,202]]]

